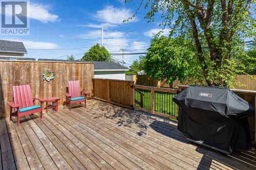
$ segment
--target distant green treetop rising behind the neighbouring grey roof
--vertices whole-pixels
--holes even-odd
[[[109,61],[112,62],[113,59],[110,56],[110,53],[104,46],[96,45],[92,46],[90,50],[84,54],[81,60],[84,61]]]

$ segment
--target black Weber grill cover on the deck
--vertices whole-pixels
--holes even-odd
[[[178,130],[187,138],[222,150],[251,148],[253,106],[229,88],[189,86],[173,101],[180,106]]]

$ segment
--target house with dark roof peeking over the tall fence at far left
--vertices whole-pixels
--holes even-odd
[[[0,40],[0,57],[7,57],[8,60],[24,58],[27,50],[23,42]]]

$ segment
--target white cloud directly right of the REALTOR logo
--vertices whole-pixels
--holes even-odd
[[[30,3],[29,16],[44,23],[60,21],[58,15],[51,13],[49,10],[50,7],[47,5]]]

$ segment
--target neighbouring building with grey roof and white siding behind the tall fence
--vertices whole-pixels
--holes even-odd
[[[38,61],[63,61],[67,62],[70,60],[55,60],[55,59],[38,59]],[[72,62],[90,62],[94,63],[94,78],[102,79],[116,79],[125,80],[125,71],[129,69],[115,62],[104,62],[104,61],[79,61],[75,60]]]

